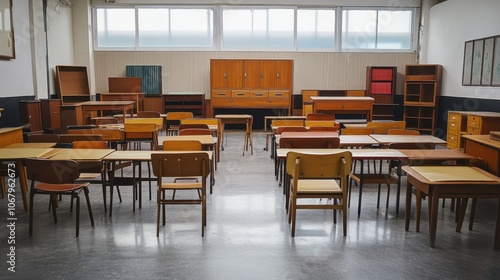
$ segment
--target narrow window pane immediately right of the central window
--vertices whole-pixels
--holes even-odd
[[[297,10],[297,48],[335,49],[335,10]]]

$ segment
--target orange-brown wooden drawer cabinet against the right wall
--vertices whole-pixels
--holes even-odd
[[[500,113],[449,111],[447,127],[447,146],[452,149],[462,149],[462,135],[489,134],[500,130]]]

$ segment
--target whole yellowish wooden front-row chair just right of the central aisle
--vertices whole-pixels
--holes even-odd
[[[288,222],[291,223],[291,236],[295,236],[297,209],[332,209],[334,223],[337,222],[336,210],[341,210],[343,233],[344,236],[347,236],[346,180],[351,170],[351,152],[336,152],[328,155],[289,152],[286,162],[286,172],[292,178],[290,183],[290,210],[288,212]],[[298,203],[301,199],[311,198],[332,199],[333,203]]]

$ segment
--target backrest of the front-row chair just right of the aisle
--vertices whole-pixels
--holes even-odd
[[[306,154],[288,152],[286,172],[298,179],[340,179],[342,192],[346,192],[346,179],[351,171],[352,154],[350,151],[331,154]],[[296,188],[295,188],[296,189]]]

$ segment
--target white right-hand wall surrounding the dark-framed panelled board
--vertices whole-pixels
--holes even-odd
[[[442,96],[500,100],[500,87],[462,86],[465,41],[500,35],[499,12],[498,0],[448,0],[431,8],[420,62],[443,65]]]

